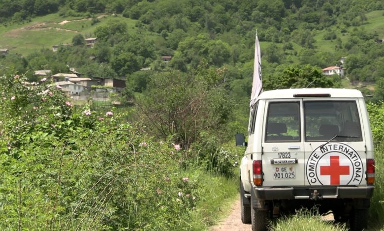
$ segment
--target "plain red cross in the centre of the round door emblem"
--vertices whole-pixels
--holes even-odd
[[[331,184],[340,184],[340,175],[349,175],[350,167],[340,165],[339,156],[330,156],[330,166],[320,166],[320,175],[330,175]]]

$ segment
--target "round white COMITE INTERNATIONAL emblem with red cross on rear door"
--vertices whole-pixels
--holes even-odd
[[[311,153],[305,172],[310,185],[355,185],[363,179],[364,166],[352,147],[329,143]]]

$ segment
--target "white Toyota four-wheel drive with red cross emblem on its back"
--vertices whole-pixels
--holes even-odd
[[[262,92],[251,106],[240,165],[241,219],[266,230],[274,215],[301,207],[333,211],[352,230],[367,226],[375,181],[369,118],[360,91]]]

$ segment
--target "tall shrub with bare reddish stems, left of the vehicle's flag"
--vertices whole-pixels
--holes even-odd
[[[152,76],[137,98],[137,111],[148,132],[163,138],[172,135],[175,143],[188,148],[203,130],[224,123],[230,100],[223,74],[221,69],[201,67],[194,75],[171,71]]]

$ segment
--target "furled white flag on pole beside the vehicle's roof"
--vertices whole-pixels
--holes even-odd
[[[258,42],[257,34],[255,41],[255,63],[254,63],[254,79],[252,82],[251,103],[252,106],[256,102],[257,96],[262,90],[261,84],[261,56],[260,56],[260,44]]]

